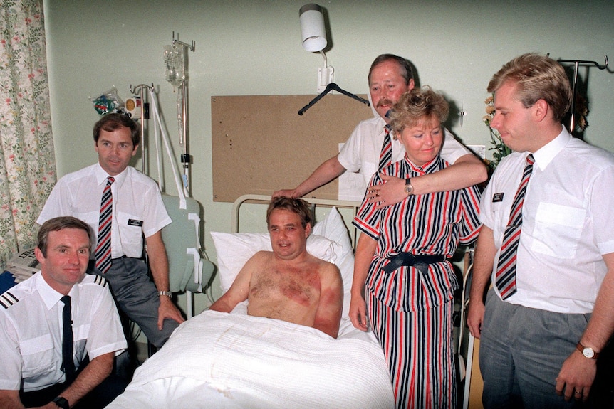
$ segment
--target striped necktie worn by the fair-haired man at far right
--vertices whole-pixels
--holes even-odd
[[[514,196],[514,202],[511,204],[509,222],[505,228],[501,253],[499,253],[499,261],[496,265],[495,283],[502,299],[506,299],[516,292],[516,252],[522,227],[522,205],[526,186],[529,184],[529,178],[533,171],[533,163],[533,155],[526,156],[526,166],[520,186],[518,186],[518,191]]]

